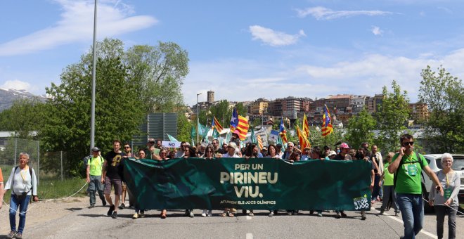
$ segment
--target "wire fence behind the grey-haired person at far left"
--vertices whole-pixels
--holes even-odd
[[[40,142],[22,138],[7,138],[0,142],[0,167],[4,178],[8,179],[11,169],[19,165],[20,153],[29,154],[28,165],[37,175],[37,182],[41,180],[59,180],[72,178],[71,160],[65,151],[46,152],[40,150]],[[6,180],[4,179],[4,180]]]

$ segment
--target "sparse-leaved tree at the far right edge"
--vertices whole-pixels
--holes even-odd
[[[440,66],[434,72],[427,65],[420,73],[419,101],[427,103],[430,116],[425,136],[433,152],[464,152],[464,87]]]

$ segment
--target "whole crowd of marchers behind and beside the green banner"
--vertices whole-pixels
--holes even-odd
[[[138,205],[124,183],[122,162],[127,157],[151,160],[169,160],[174,158],[202,157],[205,160],[214,160],[219,157],[243,157],[245,159],[266,157],[275,160],[307,161],[307,160],[364,160],[370,162],[370,190],[372,191],[371,204],[382,202],[380,214],[393,207],[395,216],[401,212],[404,221],[404,238],[415,238],[415,235],[423,227],[423,198],[420,181],[421,172],[424,171],[433,185],[430,190],[430,205],[435,206],[437,212],[437,234],[443,237],[444,217],[449,217],[449,238],[456,238],[456,212],[458,209],[458,191],[460,188],[460,175],[453,172],[451,166],[453,157],[450,154],[442,156],[442,170],[433,172],[428,167],[427,161],[419,153],[415,153],[414,138],[405,134],[401,136],[401,147],[397,153],[386,154],[385,162],[378,151],[377,146],[369,148],[368,143],[362,143],[358,149],[351,148],[347,143],[339,143],[334,150],[328,146],[315,146],[312,148],[298,148],[294,143],[288,142],[283,150],[281,144],[270,144],[259,150],[256,143],[247,143],[245,147],[239,147],[238,135],[234,134],[231,141],[220,145],[217,139],[210,144],[200,144],[198,147],[190,146],[188,142],[181,142],[179,150],[176,148],[162,147],[162,141],[149,138],[147,147],[141,148],[136,153],[129,143],[122,144],[113,141],[113,150],[101,155],[97,147],[91,149],[91,158],[87,161],[86,181],[89,183],[89,208],[96,205],[96,193],[102,205],[109,205],[108,216],[117,219],[118,209],[126,206],[126,194],[129,195],[129,207],[134,208],[133,219],[145,217],[145,210]],[[121,146],[124,146],[122,149]],[[8,238],[22,238],[25,228],[27,205],[31,200],[38,201],[37,178],[34,169],[27,166],[29,155],[20,153],[19,165],[12,169],[8,181],[4,185],[0,169],[0,208],[4,193],[11,189],[10,200],[10,226],[11,232]],[[114,198],[110,193],[114,191]],[[19,211],[18,211],[19,208]],[[310,214],[317,212],[318,217],[323,217],[322,210],[311,210]],[[19,225],[16,228],[15,216],[19,212]],[[269,212],[269,217],[278,211]],[[288,215],[298,214],[297,209],[287,210]],[[237,210],[226,208],[220,214],[221,217],[235,217]],[[243,210],[243,214],[254,216],[253,210]],[[193,209],[186,209],[187,217],[194,217]],[[202,217],[211,217],[212,208],[202,209]],[[167,210],[162,209],[162,219],[167,218]],[[335,218],[347,217],[343,211],[335,211]],[[366,213],[361,212],[361,219],[366,219]]]

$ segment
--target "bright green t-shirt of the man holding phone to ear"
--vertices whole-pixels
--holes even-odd
[[[392,162],[397,160],[398,153],[393,156]],[[412,153],[411,156],[404,155],[402,160],[403,164],[401,164],[401,168],[397,169],[397,185],[395,186],[395,191],[397,193],[408,193],[408,194],[422,194],[422,186],[420,185],[420,178],[422,174],[422,168],[420,167],[419,162],[409,163],[418,161],[416,155],[420,157],[422,160],[422,164],[425,166],[428,165],[427,160],[425,157]]]

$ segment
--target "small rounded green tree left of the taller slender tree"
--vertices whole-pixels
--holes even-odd
[[[356,117],[351,117],[346,127],[345,138],[352,147],[361,146],[361,143],[368,142],[370,145],[374,142],[375,119],[366,108],[363,108]]]

